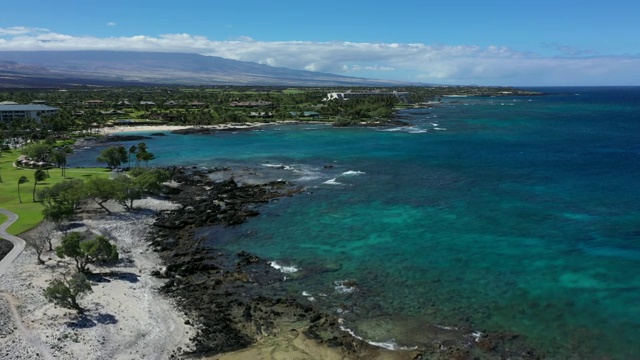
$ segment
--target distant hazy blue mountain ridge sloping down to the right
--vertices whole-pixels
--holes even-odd
[[[10,73],[10,74],[7,74]],[[8,78],[3,75],[12,75]],[[38,77],[40,75],[41,77]],[[401,86],[215,56],[131,51],[0,51],[0,87],[28,80],[60,84]],[[416,85],[416,84],[413,84]],[[26,86],[26,85],[25,85]]]

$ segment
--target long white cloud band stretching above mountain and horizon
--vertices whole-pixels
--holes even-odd
[[[199,53],[270,66],[405,81],[493,85],[639,85],[640,56],[596,56],[552,44],[549,57],[492,45],[217,41],[191,34],[91,37],[0,28],[0,50],[131,50]]]

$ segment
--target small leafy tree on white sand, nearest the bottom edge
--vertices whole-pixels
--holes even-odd
[[[75,272],[69,278],[64,276],[62,280],[52,280],[44,290],[44,297],[58,306],[81,314],[84,309],[78,304],[78,299],[92,291],[87,277],[81,272]]]

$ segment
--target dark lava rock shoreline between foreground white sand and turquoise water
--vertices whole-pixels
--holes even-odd
[[[295,332],[294,337],[337,351],[341,359],[539,358],[511,343],[517,337],[513,334],[479,334],[469,340],[468,333],[459,331],[427,349],[394,351],[352,336],[335,315],[288,296],[283,274],[266,260],[247,251],[225,253],[196,237],[198,228],[240,224],[258,214],[258,204],[303,191],[283,181],[243,186],[233,178],[214,182],[209,177],[214,171],[173,169],[180,186],[169,198],[181,208],[159,213],[148,237],[165,265],[154,272],[166,279],[162,292],[175,299],[197,332],[191,338],[194,349],[183,355],[238,351]]]

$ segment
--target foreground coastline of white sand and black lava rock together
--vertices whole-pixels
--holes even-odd
[[[174,171],[176,170],[186,171],[183,168],[174,168]],[[103,356],[104,352],[108,353],[109,358],[114,359],[143,356],[180,358],[186,355],[217,360],[404,360],[467,359],[478,354],[482,355],[478,357],[481,359],[499,358],[500,354],[494,350],[505,340],[501,338],[503,334],[490,334],[478,337],[475,341],[456,335],[457,337],[450,336],[442,342],[434,340],[433,346],[425,349],[388,350],[357,337],[341,326],[337,316],[323,313],[313,305],[301,304],[285,293],[280,293],[280,296],[274,296],[272,292],[265,295],[265,286],[275,284],[277,287],[278,282],[283,280],[283,274],[273,269],[266,260],[244,251],[238,254],[224,254],[217,249],[203,249],[200,247],[202,239],[194,236],[194,230],[216,224],[240,223],[257,215],[259,203],[281,196],[291,196],[299,190],[290,188],[285,182],[275,182],[266,186],[239,186],[233,180],[213,182],[209,179],[209,173],[193,170],[188,172],[177,179],[180,186],[174,189],[171,201],[167,202],[165,207],[155,208],[159,212],[138,214],[147,216],[144,217],[145,220],[135,216],[128,219],[126,213],[117,216],[105,216],[101,211],[86,213],[87,219],[84,223],[92,224],[95,229],[118,231],[123,224],[133,227],[128,235],[117,236],[119,248],[124,245],[125,249],[128,249],[125,253],[133,263],[131,269],[119,270],[133,274],[133,278],[137,278],[138,282],[152,286],[144,287],[142,292],[138,292],[138,282],[126,280],[131,279],[131,275],[123,279],[108,279],[111,281],[105,284],[100,283],[100,291],[94,290],[94,294],[84,299],[91,302],[94,319],[88,322],[88,325],[72,324],[75,326],[72,330],[69,330],[69,312],[58,310],[51,315],[50,310],[43,309],[51,309],[52,305],[42,304],[43,299],[38,300],[39,305],[28,305],[26,308],[31,310],[27,311],[35,314],[29,319],[30,324],[33,324],[30,327],[41,336],[44,335],[47,341],[59,340],[60,329],[64,331],[62,334],[66,334],[63,338],[64,346],[47,342],[52,351],[55,351],[56,358],[73,359],[78,358],[78,354],[90,354],[83,358],[97,359]],[[224,188],[217,188],[220,184]],[[275,192],[271,192],[269,186]],[[221,194],[222,197],[219,196]],[[169,217],[172,213],[182,218],[172,219]],[[223,220],[222,223],[217,222],[220,219]],[[157,231],[147,233],[147,230],[136,229],[138,223],[155,230],[160,229],[165,234],[159,234]],[[177,229],[180,231],[172,232]],[[152,252],[145,239],[151,240],[151,246],[158,252]],[[135,241],[137,245],[129,247],[127,244],[131,241]],[[147,256],[155,260],[151,263],[144,262]],[[33,257],[29,260],[35,263]],[[51,266],[60,266],[59,261],[49,260],[48,264],[50,262]],[[30,267],[33,268],[30,276],[36,276],[33,273],[39,269],[36,265]],[[45,284],[46,281],[40,279],[39,283]],[[22,281],[22,285],[29,282],[32,281]],[[128,294],[123,295],[124,299],[115,299],[119,297],[114,296],[114,283],[122,286],[122,289],[117,288],[116,292]],[[0,285],[4,285],[2,281]],[[40,290],[43,286],[40,286]],[[132,292],[127,293],[127,287]],[[161,293],[156,289],[161,289]],[[33,289],[30,293],[29,289],[25,291],[33,298],[40,295]],[[169,295],[171,300],[165,295]],[[143,303],[141,299],[144,300]],[[20,301],[25,301],[24,297]],[[163,301],[168,302],[168,305],[162,305]],[[141,304],[148,313],[140,313]],[[103,324],[97,321],[100,314],[113,317],[100,317],[106,319],[101,320],[105,322]],[[207,317],[207,314],[215,316]],[[117,322],[110,320],[114,317]],[[162,325],[154,323],[157,318],[170,320]],[[146,333],[149,327],[154,330],[175,330],[163,330],[163,333],[153,336]],[[15,332],[12,336],[10,339],[15,340]],[[212,339],[220,340],[221,343],[212,345]],[[3,340],[0,340],[0,344],[4,345],[1,341]],[[140,345],[141,343],[145,345]],[[28,348],[28,344],[24,346]],[[150,351],[153,352],[149,353]],[[522,355],[523,359],[536,358],[527,356],[526,352],[518,354]]]

